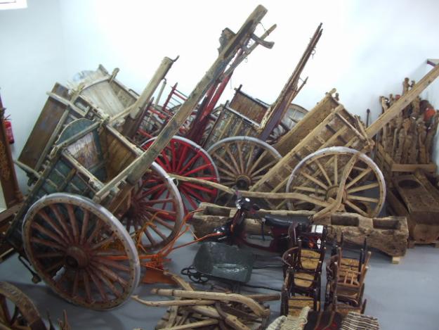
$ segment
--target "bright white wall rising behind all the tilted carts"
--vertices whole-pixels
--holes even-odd
[[[2,49],[14,50],[13,55],[1,55],[4,103],[10,110],[29,114],[18,125],[15,120],[20,141],[27,139],[44,104],[44,91],[51,89],[56,80],[62,82],[80,70],[95,69],[99,63],[107,70],[119,67],[119,79],[141,91],[164,56],[180,55],[168,80],[178,82],[181,91],[189,93],[215,60],[221,30],[230,27],[236,32],[259,3],[28,2],[30,8],[26,10],[0,13]],[[370,108],[374,120],[380,112],[380,95],[400,93],[404,77],[419,80],[430,69],[426,58],[439,58],[439,1],[310,0],[266,1],[263,5],[268,8],[263,25],[268,28],[277,23],[277,29],[268,37],[275,46],[271,50],[259,46],[247,63],[235,70],[222,100],[230,99],[233,87],[243,84],[247,93],[273,102],[320,22],[323,35],[303,73],[303,77],[309,76],[308,84],[295,100],[306,108],[336,87],[351,113],[364,118]],[[14,37],[6,33],[13,31],[12,27],[19,29],[11,32]],[[261,34],[262,27],[259,31]],[[28,70],[33,74],[25,79]],[[430,94],[438,86],[435,82]],[[26,98],[20,97],[25,93]],[[438,103],[433,105],[439,107]],[[15,148],[20,151],[20,146]]]

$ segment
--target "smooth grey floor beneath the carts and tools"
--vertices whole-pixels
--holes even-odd
[[[188,241],[189,236],[182,238]],[[188,246],[171,254],[169,269],[180,272],[190,265],[197,246]],[[390,258],[378,251],[372,253],[372,260],[366,279],[365,298],[367,315],[379,319],[381,329],[439,329],[439,250],[431,246],[417,246],[407,250],[399,265],[392,265]],[[30,274],[15,256],[0,264],[0,280],[10,281],[32,298],[41,314],[46,310],[52,319],[67,310],[72,329],[154,329],[164,313],[164,308],[145,307],[135,301],[107,312],[86,310],[65,303],[44,284],[32,284]],[[256,269],[250,284],[263,284],[280,288],[280,269]],[[136,294],[141,298],[158,300],[148,296],[152,285],[141,284]],[[279,303],[272,303],[272,317],[278,316]]]

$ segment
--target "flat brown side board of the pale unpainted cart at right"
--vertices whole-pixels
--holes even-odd
[[[322,120],[325,120],[334,108],[339,106],[339,102],[332,96],[335,91],[335,89],[329,91],[313,109],[274,145],[275,149],[279,151],[282,156],[287,155],[287,153],[310,134]]]

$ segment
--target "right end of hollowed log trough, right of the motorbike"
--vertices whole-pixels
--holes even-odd
[[[381,252],[400,257],[407,250],[409,231],[406,217],[362,217],[355,213],[334,213],[317,220],[328,227],[330,239],[340,238],[362,246],[367,238],[367,246]]]

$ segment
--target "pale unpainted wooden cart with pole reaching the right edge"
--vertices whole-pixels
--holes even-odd
[[[266,160],[268,150],[255,151],[257,141],[249,137],[234,142],[235,146],[221,146],[219,157],[210,152],[222,176],[222,186],[210,185],[221,191],[219,203],[229,203],[235,189],[242,189],[243,196],[262,198],[270,210],[311,210],[315,218],[336,210],[376,217],[384,203],[386,184],[379,168],[366,156],[373,146],[372,137],[438,75],[436,65],[367,129],[327,94],[275,144],[284,153],[280,160]],[[263,170],[265,174],[261,174]]]

